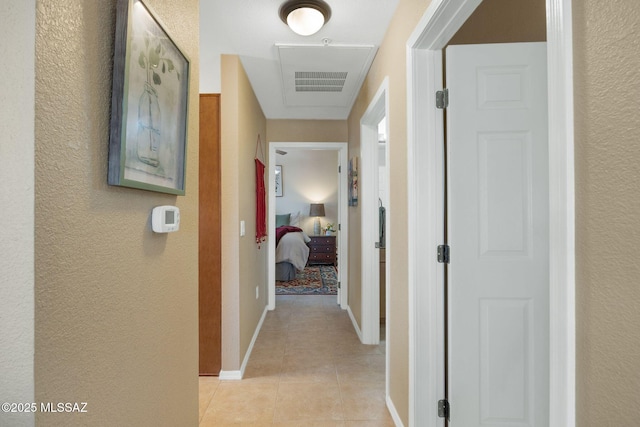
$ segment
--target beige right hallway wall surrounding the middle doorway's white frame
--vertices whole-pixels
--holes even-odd
[[[360,156],[360,118],[382,84],[389,77],[389,173],[391,175],[387,251],[390,252],[391,282],[387,296],[390,316],[389,393],[404,425],[409,424],[409,318],[407,277],[407,70],[406,43],[424,14],[428,0],[400,0],[384,41],[349,116],[349,156]],[[349,211],[349,242],[360,242],[361,210]],[[358,243],[356,243],[357,245]],[[350,253],[358,250],[350,248]],[[352,262],[350,256],[350,263]],[[360,269],[350,264],[349,284],[360,286]],[[354,289],[355,291],[355,289]],[[351,292],[349,297],[352,297]],[[349,303],[351,306],[351,302]],[[352,307],[353,309],[353,307]]]

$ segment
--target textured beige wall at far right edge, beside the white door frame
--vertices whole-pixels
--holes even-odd
[[[575,1],[579,427],[640,420],[640,3]]]

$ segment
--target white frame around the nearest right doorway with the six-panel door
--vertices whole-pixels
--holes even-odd
[[[444,122],[442,111],[435,107],[434,95],[442,89],[441,50],[481,2],[434,0],[407,41],[410,426],[436,427],[444,424],[443,419],[438,418],[436,404],[444,396],[443,276],[436,261],[436,246],[442,243],[444,224]],[[546,0],[546,4],[550,211],[549,426],[575,427],[571,0]]]

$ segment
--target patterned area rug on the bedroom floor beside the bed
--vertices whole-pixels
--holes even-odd
[[[336,295],[338,275],[332,265],[306,266],[288,282],[276,281],[276,295]]]

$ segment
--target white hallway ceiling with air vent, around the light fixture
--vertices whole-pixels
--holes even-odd
[[[398,0],[325,0],[331,19],[308,37],[280,20],[284,1],[200,0],[200,91],[220,91],[219,55],[236,54],[268,119],[346,119]],[[344,87],[296,91],[296,72]]]

